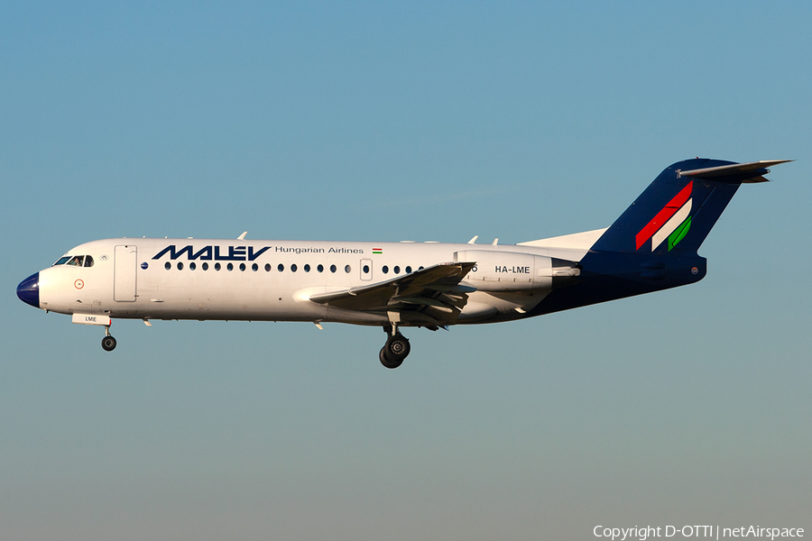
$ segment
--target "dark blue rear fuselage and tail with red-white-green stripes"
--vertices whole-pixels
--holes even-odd
[[[573,287],[552,291],[534,314],[676,288],[702,280],[699,246],[745,183],[766,182],[770,166],[791,160],[734,163],[678,161],[609,226],[579,261]]]

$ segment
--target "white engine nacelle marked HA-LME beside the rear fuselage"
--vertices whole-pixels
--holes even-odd
[[[479,291],[526,291],[552,289],[553,278],[577,276],[575,261],[546,255],[495,250],[464,250],[456,253],[457,262],[475,261],[466,283]]]

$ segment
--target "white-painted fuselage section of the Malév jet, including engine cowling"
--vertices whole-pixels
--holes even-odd
[[[523,245],[106,239],[66,256],[92,266],[39,273],[40,307],[142,319],[234,319],[385,325],[387,315],[330,307],[313,295],[392,280],[444,262],[476,261],[457,323],[517,319],[549,294],[552,258],[578,261],[601,232]],[[475,289],[475,290],[473,290]]]

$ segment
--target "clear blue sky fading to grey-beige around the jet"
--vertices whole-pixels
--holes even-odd
[[[0,5],[0,537],[812,532],[812,5]],[[744,186],[696,285],[450,332],[71,325],[17,283],[108,237],[500,243],[669,164]],[[679,537],[679,536],[677,536]],[[677,538],[675,537],[675,538]]]

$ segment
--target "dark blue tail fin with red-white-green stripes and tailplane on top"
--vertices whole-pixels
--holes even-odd
[[[651,182],[592,250],[696,254],[736,190],[743,183],[767,181],[762,176],[767,168],[786,161],[678,161]]]

